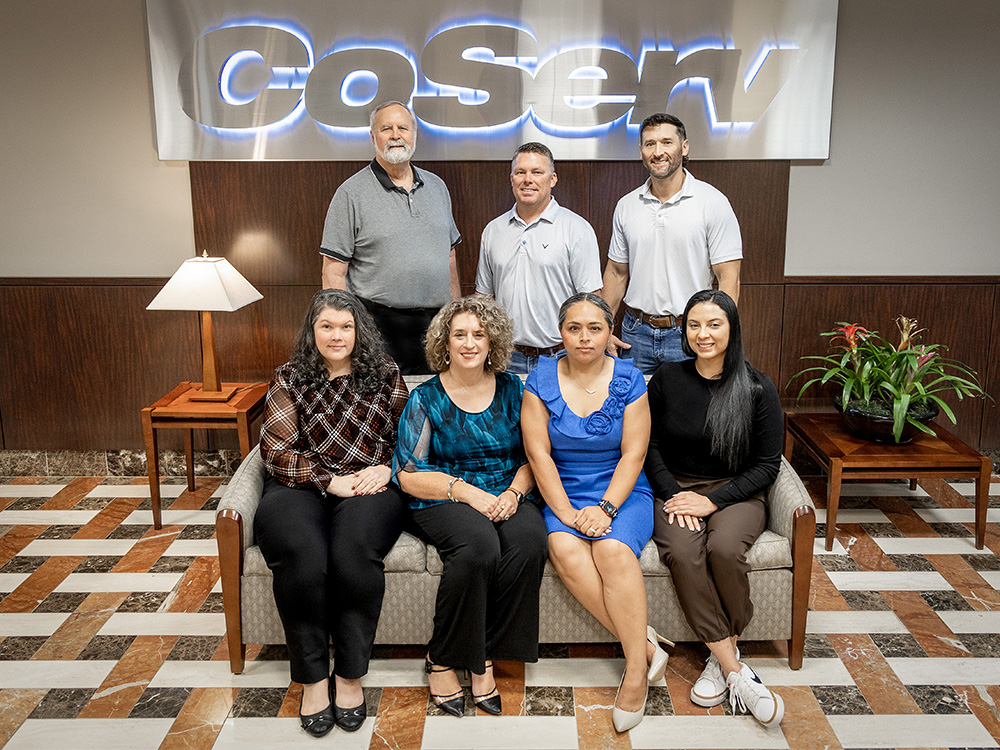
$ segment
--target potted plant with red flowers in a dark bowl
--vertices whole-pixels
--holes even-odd
[[[959,400],[989,397],[973,370],[942,356],[946,346],[919,343],[925,329],[917,328],[916,319],[900,315],[896,326],[900,334],[896,346],[856,323],[838,323],[832,331],[820,334],[831,337],[831,352],[801,358],[819,364],[792,377],[814,375],[799,389],[797,398],[812,385],[835,383],[841,390],[834,403],[849,429],[869,440],[902,443],[917,430],[933,435],[926,423],[939,410],[955,424],[954,412],[939,394],[951,391]]]

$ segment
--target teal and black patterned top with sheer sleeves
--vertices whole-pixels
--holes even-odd
[[[399,420],[393,475],[441,471],[494,495],[510,486],[522,465],[521,396],[516,375],[496,373],[493,402],[477,414],[459,409],[434,376],[413,389]],[[411,498],[410,507],[429,508],[447,500]]]

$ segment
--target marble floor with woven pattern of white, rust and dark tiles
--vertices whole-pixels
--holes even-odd
[[[823,481],[806,484],[822,507]],[[745,660],[782,695],[765,730],[688,691],[706,651],[673,650],[646,719],[611,727],[620,653],[545,644],[500,663],[504,715],[428,705],[422,648],[380,647],[361,731],[306,736],[283,647],[248,649],[232,675],[216,559],[223,478],[165,480],[154,531],[144,478],[0,479],[0,746],[72,748],[987,748],[1000,743],[1000,480],[987,549],[972,485],[850,484],[837,543],[813,562],[803,669],[784,643]],[[173,482],[173,483],[170,483]],[[825,533],[819,511],[817,537]]]

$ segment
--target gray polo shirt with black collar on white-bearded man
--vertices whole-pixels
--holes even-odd
[[[413,167],[407,193],[377,161],[344,180],[326,213],[320,253],[348,263],[347,288],[388,307],[451,299],[449,254],[462,241],[444,181]]]

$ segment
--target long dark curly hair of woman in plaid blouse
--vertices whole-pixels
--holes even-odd
[[[351,351],[351,387],[359,393],[373,393],[389,379],[392,360],[385,351],[382,334],[361,300],[342,289],[321,289],[313,295],[302,327],[295,337],[289,363],[294,379],[320,386],[330,379],[326,361],[316,348],[313,327],[326,310],[346,310],[354,316],[354,349]]]

